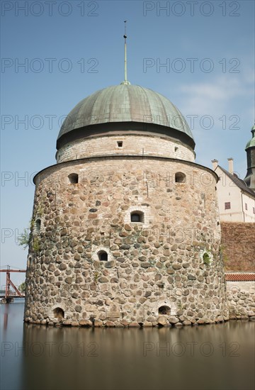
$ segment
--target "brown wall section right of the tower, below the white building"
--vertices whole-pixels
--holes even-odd
[[[228,271],[255,271],[255,223],[221,222],[222,250]]]

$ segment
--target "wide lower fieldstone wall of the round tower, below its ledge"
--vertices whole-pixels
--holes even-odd
[[[186,182],[174,182],[176,172]],[[72,173],[77,184],[69,183]],[[228,318],[210,169],[105,157],[55,165],[35,182],[25,321],[152,326]],[[132,211],[142,222],[130,221]],[[99,260],[101,250],[108,261]]]

